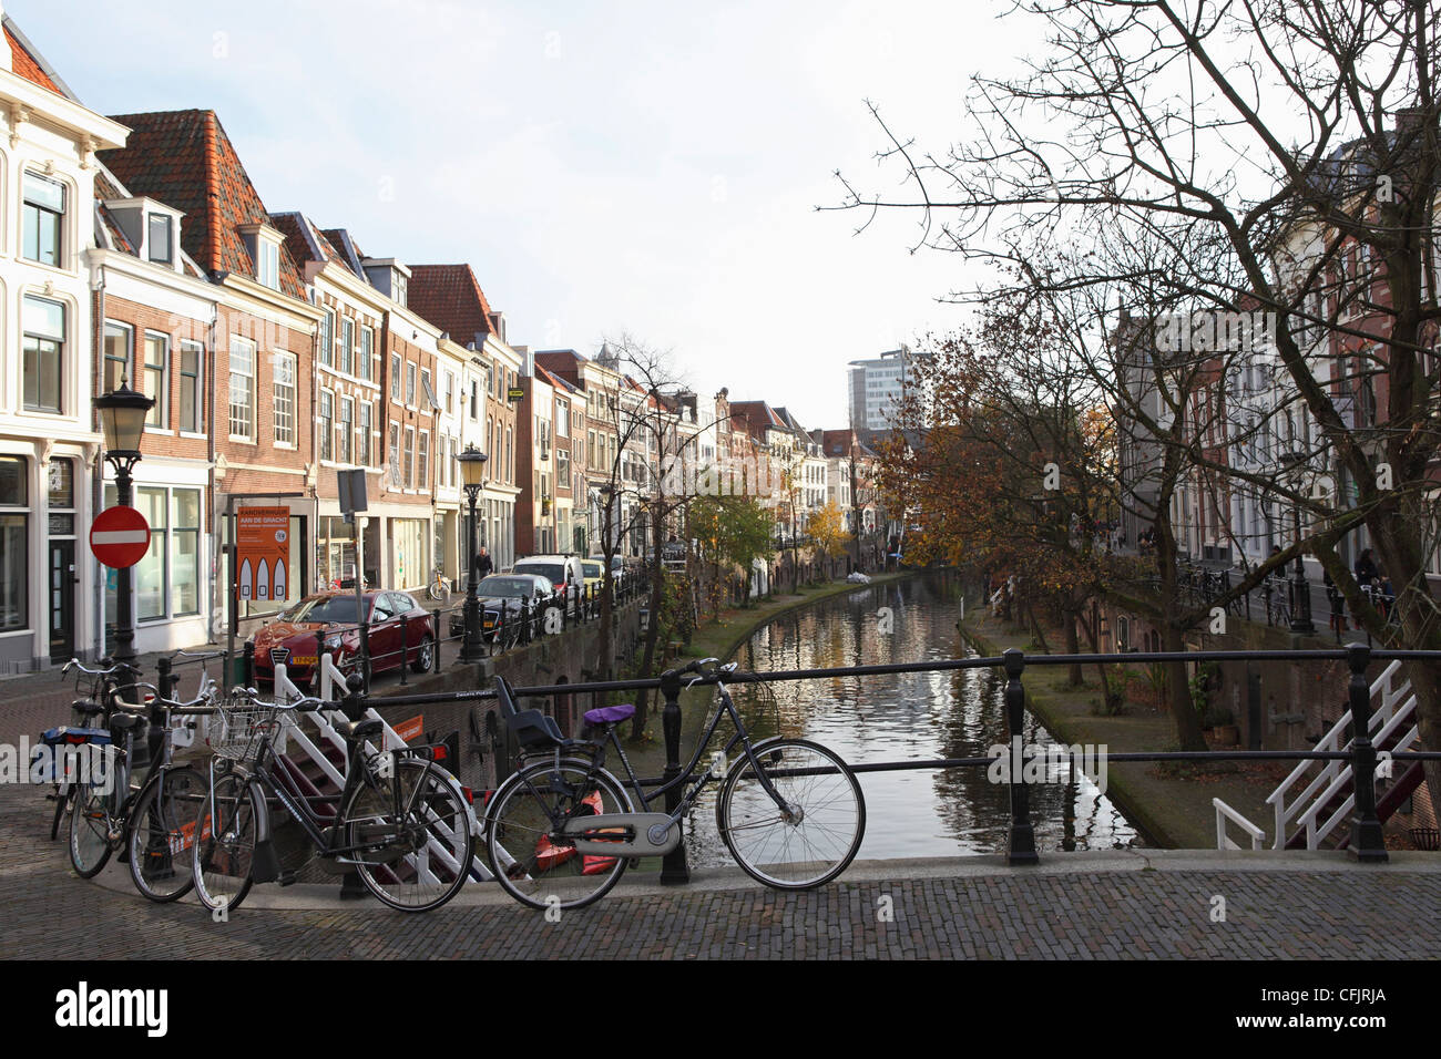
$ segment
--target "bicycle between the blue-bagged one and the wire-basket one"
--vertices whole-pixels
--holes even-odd
[[[190,765],[174,765],[174,716],[202,716],[215,709],[216,686],[202,682],[200,694],[190,702],[160,696],[151,684],[127,684],[118,692],[146,689],[153,693],[150,716],[161,728],[160,749],[151,758],[146,777],[131,784],[135,738],[146,733],[144,712],[117,705],[108,718],[112,761],[105,782],[78,784],[71,810],[71,866],[82,879],[92,879],[105,867],[111,853],[124,850],[135,889],[156,902],[176,901],[192,886],[184,856],[205,777]],[[183,725],[193,729],[193,722]],[[179,867],[177,867],[179,864]]]

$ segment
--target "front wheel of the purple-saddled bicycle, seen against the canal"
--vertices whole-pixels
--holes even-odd
[[[866,800],[836,754],[806,739],[768,739],[757,761],[788,810],[777,807],[748,758],[732,767],[716,801],[716,827],[757,882],[807,890],[846,870],[866,833]]]

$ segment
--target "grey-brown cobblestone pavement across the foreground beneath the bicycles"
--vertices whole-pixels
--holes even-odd
[[[258,888],[226,924],[187,899],[151,905],[125,877],[88,882],[48,836],[43,791],[0,790],[0,957],[4,958],[1434,958],[1441,872],[1342,860],[1278,870],[1046,872],[990,866],[865,877],[818,892],[759,886],[640,889],[623,882],[559,922],[491,888],[428,915],[370,899],[265,908]],[[1117,854],[1123,856],[1123,854]],[[1078,862],[1094,866],[1097,862]],[[862,866],[857,866],[862,867]],[[107,869],[110,870],[110,869]],[[300,888],[294,888],[300,889]],[[487,890],[473,895],[471,890]],[[261,896],[265,895],[265,896]],[[1215,896],[1225,922],[1212,922]],[[65,924],[66,929],[58,929]],[[94,924],[89,931],[75,924]]]

